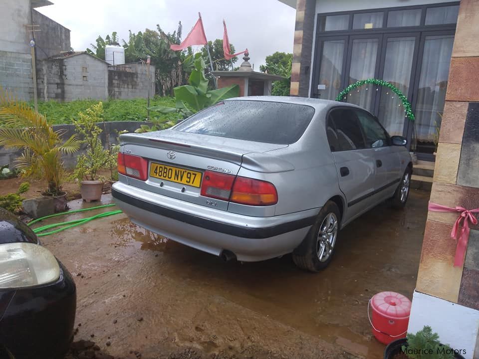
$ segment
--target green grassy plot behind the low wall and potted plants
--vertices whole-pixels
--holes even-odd
[[[99,100],[76,100],[71,102],[38,102],[38,112],[45,115],[52,125],[70,124],[78,116],[78,112],[98,103]],[[146,99],[134,100],[105,100],[103,114],[105,121],[145,121],[147,116]],[[30,104],[33,107],[33,104]],[[150,106],[175,107],[174,97],[154,97]],[[151,111],[150,117],[157,117],[158,113]],[[169,114],[170,119],[178,118],[177,114]]]

